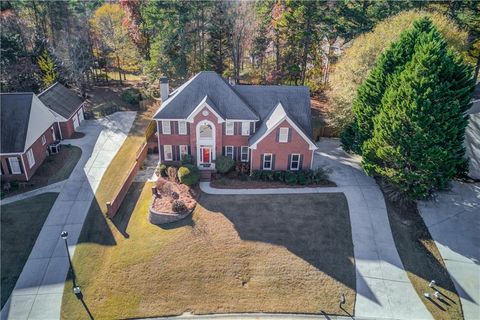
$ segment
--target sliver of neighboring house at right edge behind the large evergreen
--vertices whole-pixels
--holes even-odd
[[[465,130],[465,149],[469,159],[469,176],[480,180],[480,84],[473,94],[469,121]]]

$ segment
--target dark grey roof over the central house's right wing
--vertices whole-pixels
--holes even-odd
[[[272,116],[275,107],[280,103],[288,118],[309,139],[312,138],[310,91],[307,87],[236,85],[233,88],[260,116],[262,125],[257,132],[266,130],[267,120]]]

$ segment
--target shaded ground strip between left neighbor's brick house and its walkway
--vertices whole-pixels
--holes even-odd
[[[8,193],[2,192],[2,198],[68,179],[81,156],[82,149],[79,147],[62,145],[59,153],[52,154],[45,159],[30,181],[28,181],[27,186],[19,188],[16,183],[12,183],[12,190]]]

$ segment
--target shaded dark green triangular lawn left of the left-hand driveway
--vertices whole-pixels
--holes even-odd
[[[2,308],[15,287],[58,193],[1,206]]]

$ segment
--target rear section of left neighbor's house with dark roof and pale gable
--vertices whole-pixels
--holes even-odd
[[[84,119],[84,102],[60,83],[47,88],[38,98],[53,111],[61,139],[70,138]]]

